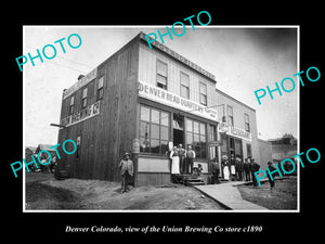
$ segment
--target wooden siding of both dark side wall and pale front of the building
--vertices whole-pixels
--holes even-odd
[[[101,179],[119,181],[118,163],[126,151],[131,152],[132,140],[139,138],[139,102],[157,106],[169,112],[177,112],[164,104],[145,101],[138,98],[138,81],[156,86],[156,60],[168,64],[168,91],[180,95],[180,72],[190,76],[190,100],[199,103],[199,82],[207,85],[207,103],[211,105],[233,106],[234,126],[245,128],[244,114],[249,115],[252,141],[243,140],[243,156],[247,157],[247,143],[251,144],[252,157],[259,163],[259,144],[255,110],[230,98],[214,89],[214,82],[198,74],[186,65],[169,57],[167,54],[148,49],[139,39],[134,38],[114,55],[98,67],[98,76],[88,86],[88,101],[90,105],[96,101],[99,78],[104,76],[104,95],[101,100],[100,115],[89,118],[74,126],[61,129],[58,143],[66,139],[77,140],[81,137],[80,157],[76,154],[66,155],[58,147],[61,159],[58,168],[67,168],[70,177],[82,179]],[[81,110],[81,90],[75,92],[75,112]],[[68,115],[69,98],[62,102],[61,118]],[[226,107],[224,107],[226,115]],[[222,119],[222,106],[218,106],[218,120]],[[171,116],[172,117],[172,116]],[[213,124],[188,115],[200,121]],[[209,130],[209,127],[207,128]],[[172,127],[170,127],[172,131]],[[172,140],[172,133],[171,138]],[[209,158],[209,150],[208,158]],[[136,167],[136,165],[135,165]],[[209,165],[206,167],[209,169]],[[152,170],[152,169],[151,169]],[[136,185],[165,184],[170,182],[169,172],[139,172]]]

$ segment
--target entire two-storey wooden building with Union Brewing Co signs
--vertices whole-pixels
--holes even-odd
[[[70,177],[119,181],[132,153],[135,185],[170,182],[172,145],[192,145],[194,165],[210,172],[222,156],[260,159],[256,111],[216,89],[214,76],[166,46],[150,49],[140,33],[62,97],[58,169]],[[56,170],[60,171],[60,170]]]

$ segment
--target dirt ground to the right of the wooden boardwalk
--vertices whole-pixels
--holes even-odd
[[[297,209],[297,178],[275,181],[275,188],[270,190],[270,183],[260,187],[240,185],[238,190],[246,201],[256,203],[269,209]]]

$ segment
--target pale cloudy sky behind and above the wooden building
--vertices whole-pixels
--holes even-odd
[[[24,26],[23,53],[37,55],[47,44],[56,48],[52,60],[43,63],[35,59],[23,66],[24,77],[24,140],[26,146],[56,144],[63,89],[77,81],[114,54],[140,31],[166,33],[166,26]],[[178,29],[181,31],[182,29]],[[298,136],[299,81],[294,74],[297,66],[297,28],[274,26],[186,26],[183,36],[164,37],[165,44],[216,76],[216,87],[256,110],[259,138],[268,140],[284,133]],[[78,34],[82,43],[77,49],[67,44],[67,38]],[[54,41],[62,42],[66,53]],[[73,44],[78,44],[72,38]],[[158,39],[161,42],[161,40]],[[47,49],[51,56],[51,49]],[[18,72],[17,66],[17,72]],[[296,81],[296,89],[268,94],[261,104],[255,97],[258,89],[275,88],[285,77]],[[286,89],[291,85],[285,84]]]

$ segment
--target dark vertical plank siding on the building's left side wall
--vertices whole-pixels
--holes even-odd
[[[104,76],[100,114],[61,129],[58,143],[81,137],[80,157],[62,152],[58,168],[81,179],[119,181],[118,164],[131,152],[136,130],[139,42],[131,40],[98,67],[98,76],[88,86],[87,105],[96,101],[99,78]],[[75,92],[75,112],[81,110],[81,90]],[[69,98],[62,103],[61,117],[68,115]]]

